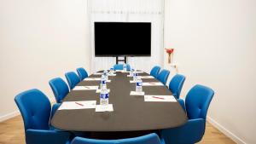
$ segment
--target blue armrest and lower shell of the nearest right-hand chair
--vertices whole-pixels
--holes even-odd
[[[160,136],[165,139],[166,143],[196,143],[201,141],[205,128],[205,119],[189,119],[183,126],[160,130]]]

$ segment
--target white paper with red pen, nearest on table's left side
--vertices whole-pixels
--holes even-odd
[[[58,110],[88,109],[95,107],[96,101],[65,101]]]

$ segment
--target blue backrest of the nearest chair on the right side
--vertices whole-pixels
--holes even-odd
[[[189,119],[207,117],[208,107],[212,101],[214,91],[206,86],[196,84],[189,90],[185,105]]]

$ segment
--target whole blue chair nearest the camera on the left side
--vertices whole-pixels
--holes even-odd
[[[51,110],[49,99],[38,89],[30,89],[15,96],[23,118],[26,144],[67,144],[70,133],[49,127]],[[55,107],[56,108],[56,107]]]

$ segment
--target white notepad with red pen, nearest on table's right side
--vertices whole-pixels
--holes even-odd
[[[144,95],[144,101],[177,102],[173,95]]]

